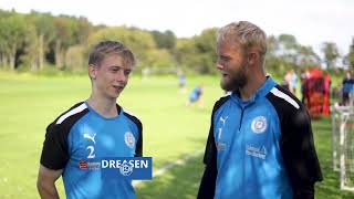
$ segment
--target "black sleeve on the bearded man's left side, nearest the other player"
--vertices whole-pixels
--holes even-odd
[[[199,191],[198,191],[198,199],[214,199],[215,196],[215,188],[216,181],[218,176],[217,169],[217,146],[215,143],[214,137],[214,114],[215,112],[225,103],[229,96],[221,97],[214,106],[212,114],[211,114],[211,125],[209,129],[208,140],[206,145],[206,151],[204,155],[204,164],[206,165],[206,169],[204,171]]]

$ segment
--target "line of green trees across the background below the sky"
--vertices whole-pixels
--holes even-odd
[[[84,71],[88,50],[101,40],[119,40],[138,59],[138,69],[171,73],[177,69],[198,74],[212,74],[217,28],[191,38],[177,38],[174,32],[149,31],[134,27],[93,25],[86,18],[52,15],[31,11],[18,13],[0,10],[0,69],[41,71],[53,67]],[[339,53],[333,42],[323,42],[323,60],[311,46],[300,44],[291,34],[268,36],[267,67],[272,73],[305,69],[325,63],[334,69],[343,59],[354,69],[354,39],[350,53]]]

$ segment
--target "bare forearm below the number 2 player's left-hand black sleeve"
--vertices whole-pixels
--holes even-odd
[[[40,165],[37,188],[42,199],[59,198],[55,181],[62,175],[63,169],[52,170]]]

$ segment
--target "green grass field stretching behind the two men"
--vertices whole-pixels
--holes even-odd
[[[133,77],[118,98],[144,125],[144,155],[154,158],[154,169],[204,150],[212,104],[222,91],[217,77],[190,77],[188,90],[202,84],[205,107],[186,107],[174,76]],[[39,77],[0,72],[0,198],[39,198],[35,181],[44,130],[60,113],[86,100],[86,76]],[[316,198],[354,198],[339,189],[339,172],[332,169],[330,119],[313,122],[315,144],[324,174]],[[201,155],[137,187],[137,198],[196,198],[204,166]],[[61,196],[62,182],[59,180]]]

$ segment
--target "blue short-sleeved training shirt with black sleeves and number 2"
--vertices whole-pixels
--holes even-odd
[[[41,164],[63,169],[66,198],[135,198],[131,180],[104,178],[101,169],[82,163],[142,156],[140,121],[116,106],[118,115],[105,118],[86,102],[79,103],[48,126]]]

